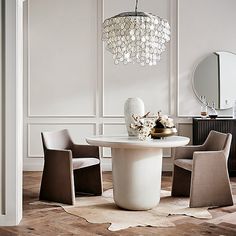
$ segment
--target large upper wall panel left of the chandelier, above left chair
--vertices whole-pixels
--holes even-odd
[[[94,116],[97,1],[29,0],[30,116]]]

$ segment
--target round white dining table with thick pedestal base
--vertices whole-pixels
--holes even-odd
[[[94,136],[87,143],[110,147],[115,203],[128,210],[148,210],[160,201],[163,148],[184,146],[189,138],[139,140],[131,136]]]

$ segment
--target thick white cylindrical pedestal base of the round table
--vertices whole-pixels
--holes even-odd
[[[112,148],[115,203],[129,210],[148,210],[160,201],[162,149]]]

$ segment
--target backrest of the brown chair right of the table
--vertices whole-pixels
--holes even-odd
[[[211,130],[205,143],[204,149],[206,151],[220,151],[224,150],[225,157],[228,158],[230,145],[232,140],[232,134],[221,133],[215,130]]]

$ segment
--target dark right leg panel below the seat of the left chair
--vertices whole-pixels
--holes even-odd
[[[102,195],[102,173],[99,165],[74,170],[75,191]]]

